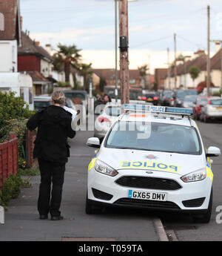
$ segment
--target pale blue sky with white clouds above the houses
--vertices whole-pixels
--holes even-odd
[[[20,0],[23,30],[41,45],[77,45],[83,61],[113,68],[114,0]],[[206,7],[211,7],[211,38],[222,39],[221,0],[137,0],[129,2],[129,68],[150,59],[152,68],[166,66],[166,48],[178,53],[206,50]],[[215,45],[211,44],[212,53]]]

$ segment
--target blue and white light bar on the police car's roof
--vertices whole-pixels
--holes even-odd
[[[172,107],[162,107],[154,105],[134,105],[134,104],[124,104],[122,108],[125,113],[129,111],[143,111],[149,113],[162,113],[162,114],[179,114],[190,116],[193,114],[192,108],[172,108]]]

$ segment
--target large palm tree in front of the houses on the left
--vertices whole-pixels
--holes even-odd
[[[65,82],[70,82],[70,65],[77,68],[78,62],[81,59],[81,50],[77,49],[75,45],[61,45],[58,44],[58,52],[54,54],[54,68],[60,71],[64,66]]]

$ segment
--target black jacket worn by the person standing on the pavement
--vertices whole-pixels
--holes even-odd
[[[71,122],[72,114],[55,105],[42,108],[34,114],[27,122],[27,128],[30,131],[38,127],[33,157],[50,162],[66,163],[67,157],[70,157],[67,137],[75,137]]]

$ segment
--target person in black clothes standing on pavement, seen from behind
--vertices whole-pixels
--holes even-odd
[[[65,165],[70,157],[67,137],[75,137],[71,127],[72,114],[63,107],[65,96],[62,91],[54,91],[52,103],[42,108],[27,122],[27,128],[38,128],[33,157],[38,157],[41,183],[38,194],[38,212],[41,220],[62,220],[61,196],[64,184]],[[51,183],[53,188],[51,190]]]

